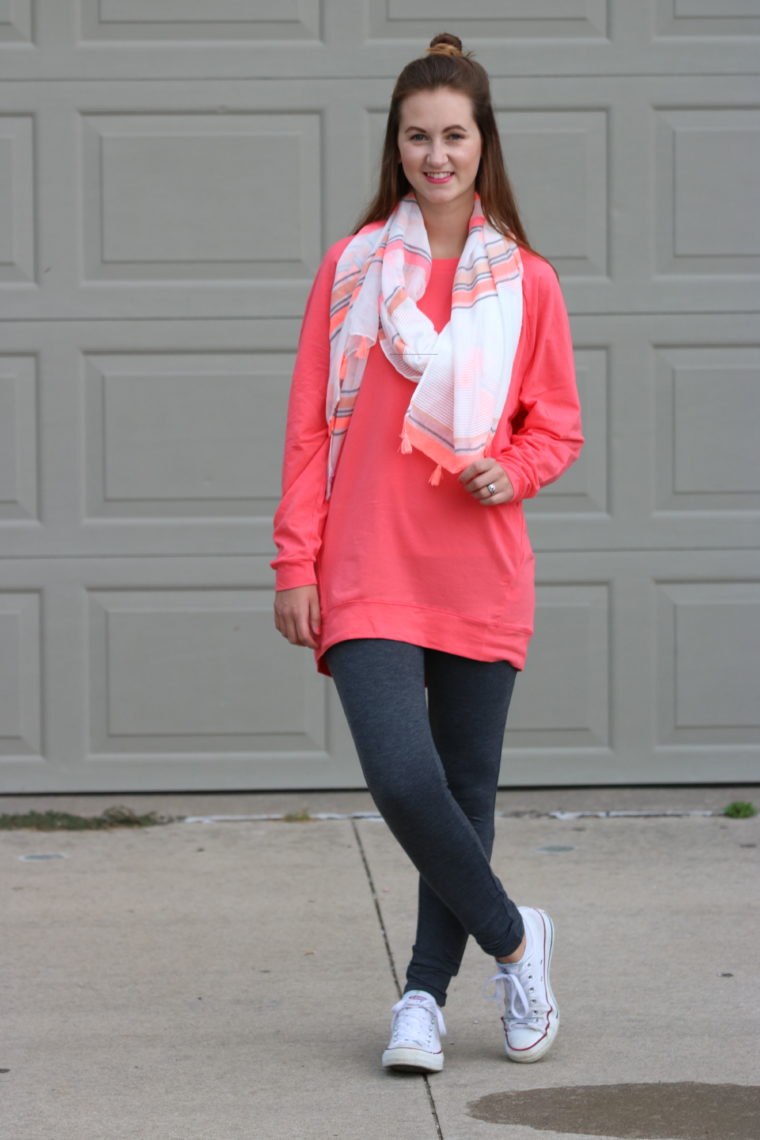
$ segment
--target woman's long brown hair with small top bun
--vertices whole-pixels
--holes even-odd
[[[361,215],[354,233],[369,222],[385,221],[411,188],[399,163],[401,104],[417,91],[434,91],[441,87],[460,91],[472,101],[482,146],[475,189],[480,194],[484,215],[496,229],[516,238],[520,245],[530,250],[504,164],[488,73],[472,58],[471,52],[461,50],[461,40],[448,32],[434,36],[427,55],[407,64],[395,81],[387,113],[377,193]]]

